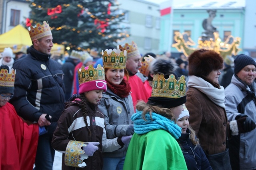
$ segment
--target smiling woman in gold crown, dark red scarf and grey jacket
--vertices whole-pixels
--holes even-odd
[[[122,137],[122,148],[114,152],[103,153],[104,170],[122,170],[124,158],[134,133],[131,116],[134,114],[131,87],[124,76],[128,76],[126,50],[106,49],[103,55],[108,89],[99,103],[99,110],[104,114],[108,139]]]

